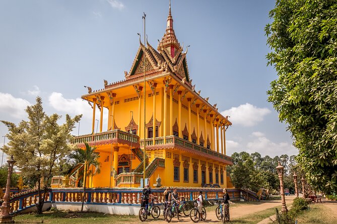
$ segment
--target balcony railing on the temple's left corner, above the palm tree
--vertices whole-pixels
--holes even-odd
[[[117,141],[126,144],[132,144],[134,147],[139,146],[139,136],[131,135],[130,133],[123,132],[120,130],[112,130],[107,132],[95,133],[91,135],[83,135],[75,137],[74,144],[87,143],[100,143],[102,141]]]

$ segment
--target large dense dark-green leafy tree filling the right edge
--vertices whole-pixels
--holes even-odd
[[[278,73],[268,101],[288,124],[306,179],[326,192],[337,190],[336,14],[334,0],[277,0],[265,27]]]

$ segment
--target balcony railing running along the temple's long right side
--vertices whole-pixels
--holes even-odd
[[[153,147],[153,139],[145,139],[146,142],[146,146],[152,146]],[[164,138],[163,137],[158,137],[155,138],[155,146],[159,146],[159,145],[164,145]],[[197,151],[197,152],[201,152],[201,153],[205,153],[217,158],[220,158],[222,160],[226,160],[229,164],[233,164],[232,162],[232,158],[226,155],[223,155],[221,153],[218,153],[216,151],[213,151],[211,149],[205,148],[203,146],[194,144],[192,142],[189,142],[187,140],[181,139],[177,136],[167,136],[166,137],[166,145],[172,145],[173,147],[175,145],[183,147],[185,149],[188,150],[193,150],[193,151]],[[144,147],[144,140],[140,141],[140,146]]]

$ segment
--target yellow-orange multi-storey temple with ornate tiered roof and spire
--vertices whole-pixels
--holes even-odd
[[[104,80],[104,87],[94,91],[88,87],[82,98],[92,107],[92,130],[75,143],[97,148],[101,172],[88,178],[87,187],[139,187],[143,172],[151,186],[160,177],[162,186],[228,187],[226,166],[233,163],[225,140],[232,123],[195,90],[186,56],[187,48],[183,51],[174,33],[170,6],[157,49],[140,39],[124,80]],[[103,110],[108,111],[107,124]]]

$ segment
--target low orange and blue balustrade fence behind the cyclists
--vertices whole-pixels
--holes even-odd
[[[173,188],[173,187],[171,187]],[[163,194],[166,187],[153,188],[152,194],[158,196],[158,203],[163,204],[165,196]],[[224,193],[221,188],[192,188],[177,187],[179,196],[186,200],[194,200],[198,197],[199,191],[203,191],[205,200],[215,200],[222,198]],[[247,198],[248,200],[258,200],[252,191],[240,189],[228,189],[232,201]],[[43,190],[41,191],[43,194]],[[83,193],[82,188],[52,188],[49,189],[45,201],[50,203],[81,204],[84,197],[85,204],[102,205],[141,205],[142,189],[140,188],[87,188]],[[38,202],[38,191],[28,190],[14,194],[10,199],[11,214],[20,213],[27,208],[36,206]],[[0,201],[1,205],[2,201]]]

